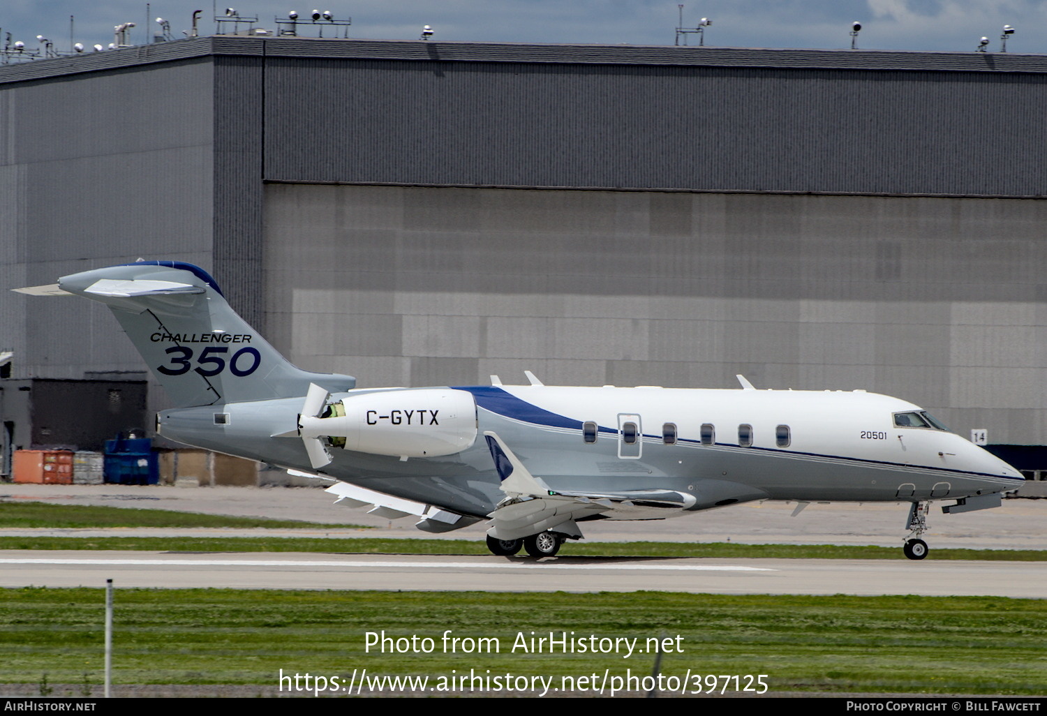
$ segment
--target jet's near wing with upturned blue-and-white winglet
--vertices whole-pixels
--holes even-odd
[[[497,433],[484,432],[506,499],[493,512],[488,534],[496,539],[520,539],[545,530],[581,537],[576,522],[598,515],[618,519],[650,516],[659,509],[684,510],[694,497],[675,490],[577,492],[552,490],[524,466]]]

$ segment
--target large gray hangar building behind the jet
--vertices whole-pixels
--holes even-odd
[[[217,36],[42,60],[0,67],[0,263],[4,288],[197,263],[360,386],[740,373],[1045,445],[1045,113],[1047,57],[1012,53]],[[92,424],[117,383],[150,381],[139,422],[164,406],[102,307],[4,290],[0,336],[8,447],[72,442],[36,424],[42,381],[96,383],[47,413]]]

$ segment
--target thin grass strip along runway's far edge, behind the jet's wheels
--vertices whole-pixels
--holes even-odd
[[[319,537],[0,537],[0,550],[141,550],[149,552],[327,552],[353,554],[487,555],[474,539]],[[753,557],[763,559],[903,559],[896,547],[737,542],[569,542],[562,557]],[[934,549],[928,559],[1047,561],[1043,550]]]

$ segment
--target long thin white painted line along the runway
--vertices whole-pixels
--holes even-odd
[[[275,559],[0,559],[0,564],[97,564],[142,566],[331,566],[331,567],[405,567],[422,569],[620,569],[627,572],[778,572],[771,567],[700,564],[549,564],[534,562],[369,562],[334,560]]]

